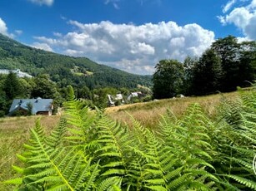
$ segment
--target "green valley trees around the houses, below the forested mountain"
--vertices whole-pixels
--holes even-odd
[[[44,98],[53,99],[53,113],[57,112],[58,107],[69,100],[70,87],[60,87],[58,83],[51,81],[50,76],[38,75],[33,78],[18,78],[15,73],[0,75],[0,117],[8,115],[8,110],[13,103],[13,99],[31,99]],[[76,98],[82,99],[85,105],[90,108],[105,108],[108,106],[107,95],[116,95],[121,93],[127,97],[133,91],[141,91],[145,95],[151,95],[149,88],[138,86],[136,88],[115,88],[100,87],[90,90],[88,86],[73,87]],[[147,97],[148,98],[148,97]],[[134,100],[135,101],[135,100]]]

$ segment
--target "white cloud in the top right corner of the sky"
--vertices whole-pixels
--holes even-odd
[[[243,6],[234,7],[228,14],[218,16],[218,19],[223,25],[238,27],[246,38],[256,40],[256,0],[243,1]]]

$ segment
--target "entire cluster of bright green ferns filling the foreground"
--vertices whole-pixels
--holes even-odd
[[[13,165],[16,190],[256,190],[256,91],[222,100],[209,118],[198,104],[182,116],[170,110],[154,130],[123,125],[81,100],[50,134],[31,130],[23,166]]]

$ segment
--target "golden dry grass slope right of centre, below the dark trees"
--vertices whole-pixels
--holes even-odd
[[[129,115],[133,115],[133,117],[143,125],[148,126],[148,128],[154,128],[154,126],[158,124],[161,115],[163,115],[167,109],[172,110],[174,115],[179,116],[183,114],[188,105],[193,103],[199,103],[210,117],[214,117],[216,106],[219,104],[222,96],[228,99],[235,99],[238,97],[238,92],[226,93],[224,95],[185,97],[155,100],[133,105],[120,105],[107,108],[106,113],[113,120],[125,123],[129,123]]]

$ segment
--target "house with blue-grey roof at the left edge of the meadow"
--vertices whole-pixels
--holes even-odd
[[[8,115],[20,112],[23,115],[31,112],[32,115],[52,115],[53,99],[15,99]]]

